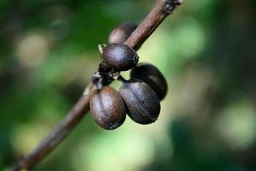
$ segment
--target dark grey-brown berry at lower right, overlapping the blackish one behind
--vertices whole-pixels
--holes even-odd
[[[150,124],[157,121],[160,113],[160,103],[150,85],[141,80],[123,82],[120,94],[130,118],[140,124]]]

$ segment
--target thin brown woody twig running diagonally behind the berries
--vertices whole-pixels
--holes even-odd
[[[137,27],[124,44],[135,50],[139,49],[159,24],[164,21],[166,16],[172,14],[181,3],[182,0],[157,0],[150,14],[146,16],[145,20],[141,22],[140,26]],[[89,97],[95,89],[96,87],[92,83],[87,85],[83,95],[74,104],[73,109],[68,112],[68,115],[63,118],[63,121],[34,150],[21,157],[13,170],[32,169],[38,162],[48,156],[89,111]]]

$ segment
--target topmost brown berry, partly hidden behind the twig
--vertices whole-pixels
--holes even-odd
[[[133,22],[123,22],[110,32],[109,44],[123,44],[137,27]]]

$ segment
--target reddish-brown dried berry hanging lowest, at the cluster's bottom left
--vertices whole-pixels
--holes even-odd
[[[98,125],[107,130],[121,126],[126,118],[126,107],[122,97],[109,86],[92,92],[90,109]]]

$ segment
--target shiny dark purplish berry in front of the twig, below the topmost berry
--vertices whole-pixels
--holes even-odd
[[[125,44],[108,44],[103,49],[102,58],[115,71],[127,71],[139,61],[136,51]]]

